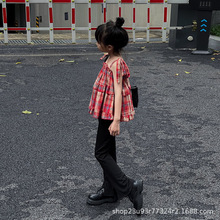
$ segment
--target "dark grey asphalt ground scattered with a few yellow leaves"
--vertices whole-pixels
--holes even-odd
[[[144,181],[142,215],[127,198],[86,204],[102,184],[88,114],[101,56],[93,44],[0,47],[0,219],[218,220],[220,55],[167,44],[123,55],[139,106],[121,124],[118,163]]]

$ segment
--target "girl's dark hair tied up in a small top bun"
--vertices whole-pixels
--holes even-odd
[[[116,22],[110,20],[106,24],[99,25],[95,32],[97,42],[105,46],[112,45],[114,53],[119,54],[129,41],[127,31],[122,28],[124,22],[124,18],[118,17]]]

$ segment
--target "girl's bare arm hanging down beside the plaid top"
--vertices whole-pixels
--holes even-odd
[[[122,106],[122,74],[119,75],[119,83],[116,77],[116,62],[112,65],[114,78],[114,120],[109,127],[110,135],[116,136],[120,134],[121,106]]]

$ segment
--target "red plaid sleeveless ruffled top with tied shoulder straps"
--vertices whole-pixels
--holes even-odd
[[[104,59],[105,57],[106,55],[101,59]],[[122,58],[118,58],[113,63],[115,62],[118,83],[119,76],[122,74],[121,121],[130,121],[134,118],[135,114],[132,102],[131,85],[129,82],[130,72],[127,64]],[[93,85],[89,113],[93,115],[94,118],[101,117],[106,120],[114,119],[114,79],[113,72],[110,69],[111,66],[109,67],[106,62],[103,63],[103,67]]]

